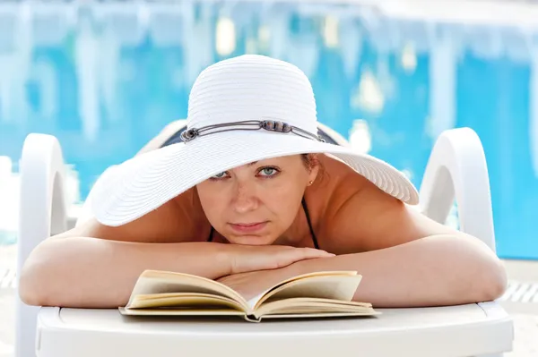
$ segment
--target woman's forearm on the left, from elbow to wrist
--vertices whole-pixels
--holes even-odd
[[[42,242],[26,260],[19,291],[24,302],[38,306],[125,306],[136,279],[145,269],[210,279],[230,274],[225,245],[51,238]]]

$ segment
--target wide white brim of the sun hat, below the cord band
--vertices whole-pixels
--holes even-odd
[[[133,157],[95,183],[91,209],[103,225],[125,225],[209,177],[271,157],[331,154],[379,189],[417,204],[413,184],[386,162],[351,148],[274,132],[221,132]]]

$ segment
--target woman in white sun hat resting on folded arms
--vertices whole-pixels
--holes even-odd
[[[213,64],[195,81],[187,128],[103,174],[94,217],[30,254],[22,300],[117,308],[144,269],[216,279],[247,298],[302,273],[356,270],[354,298],[375,307],[504,292],[493,251],[422,216],[403,174],[319,127],[297,67],[260,55]]]

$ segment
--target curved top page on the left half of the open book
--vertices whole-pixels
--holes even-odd
[[[201,293],[227,297],[247,310],[247,302],[239,293],[219,282],[202,276],[192,276],[159,270],[145,270],[136,281],[127,308],[137,295],[155,293]]]

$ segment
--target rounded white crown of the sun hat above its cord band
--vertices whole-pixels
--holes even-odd
[[[200,73],[188,101],[188,128],[247,120],[276,120],[317,134],[310,81],[293,64],[240,55]]]

